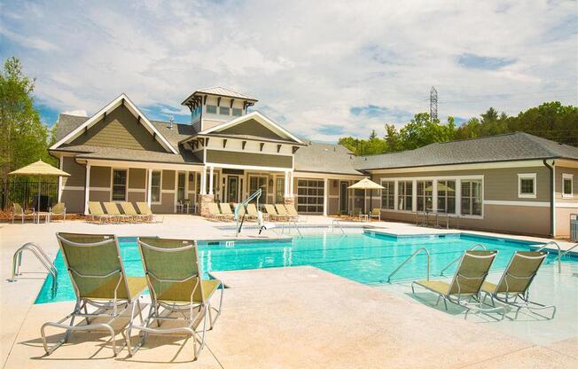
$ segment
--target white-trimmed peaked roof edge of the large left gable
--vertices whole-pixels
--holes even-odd
[[[178,153],[176,151],[176,148],[168,142],[166,137],[160,134],[159,130],[157,130],[157,128],[152,124],[152,122],[150,122],[146,118],[146,116],[140,111],[140,109],[138,109],[138,107],[132,101],[130,101],[129,97],[124,93],[122,93],[118,98],[113,99],[113,101],[111,101],[105,107],[100,109],[97,114],[92,115],[89,119],[87,119],[86,121],[82,122],[82,124],[74,128],[74,130],[69,131],[69,133],[67,133],[66,136],[61,137],[56,144],[51,146],[51,150],[58,149],[59,146],[62,144],[70,143],[71,141],[74,140],[74,138],[78,137],[83,130],[89,130],[90,127],[92,127],[94,124],[100,122],[100,120],[105,114],[112,112],[114,109],[116,109],[118,106],[121,105],[126,106],[129,109],[130,113],[134,114],[135,117],[140,118],[141,122],[143,123],[143,127],[146,130],[148,130],[157,141],[159,141],[160,145],[162,145],[165,148],[165,150],[171,153]],[[78,120],[71,119],[70,118],[71,115],[65,116],[66,116],[66,124],[68,123],[74,124],[74,122],[80,121],[80,119]]]

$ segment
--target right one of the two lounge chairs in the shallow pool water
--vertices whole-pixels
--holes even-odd
[[[529,287],[546,256],[548,253],[544,251],[516,251],[496,285],[490,282],[481,285],[481,291],[485,293],[484,300],[489,295],[493,306],[496,306],[497,300],[516,308],[514,318],[518,318],[521,309],[552,309],[551,318],[554,318],[556,306],[530,301],[528,296]]]

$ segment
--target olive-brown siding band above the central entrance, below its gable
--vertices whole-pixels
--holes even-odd
[[[207,150],[207,162],[277,168],[293,167],[292,156],[266,153],[234,153],[222,150]]]

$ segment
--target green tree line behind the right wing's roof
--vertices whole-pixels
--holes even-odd
[[[367,139],[341,137],[339,143],[356,155],[371,155],[413,150],[436,142],[516,131],[578,146],[578,106],[563,106],[559,101],[552,101],[531,107],[515,116],[498,113],[495,108],[490,107],[486,113],[480,114],[480,117],[472,117],[459,126],[451,116],[448,122],[441,123],[438,119],[430,119],[427,113],[418,113],[400,130],[397,130],[394,124],[386,124],[383,137],[379,137],[378,133],[372,130]]]

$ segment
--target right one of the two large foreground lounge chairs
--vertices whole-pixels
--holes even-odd
[[[137,345],[129,347],[129,355],[142,346],[148,334],[187,334],[192,336],[197,358],[205,345],[207,323],[208,329],[212,329],[221,314],[223,284],[218,279],[203,279],[195,241],[139,238],[138,248],[151,292],[151,305],[144,325],[127,328],[129,341],[133,329],[143,333]],[[211,297],[218,289],[221,289],[221,298],[219,308],[215,309],[211,306]],[[184,326],[162,327],[168,320],[183,322]]]

